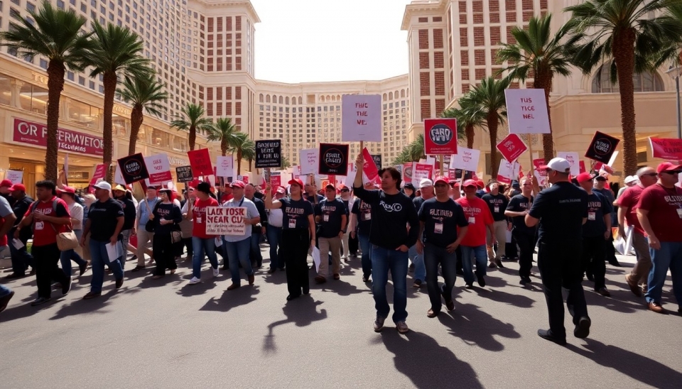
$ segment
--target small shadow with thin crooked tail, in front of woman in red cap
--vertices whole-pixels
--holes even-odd
[[[296,327],[305,327],[313,322],[327,319],[326,309],[320,309],[320,312],[318,312],[318,305],[322,304],[323,302],[314,300],[310,295],[303,295],[297,299],[286,302],[286,305],[282,308],[286,319],[268,324],[268,334],[265,336],[265,339],[263,339],[263,353],[270,354],[277,352],[274,334],[275,327],[288,323],[296,324]]]

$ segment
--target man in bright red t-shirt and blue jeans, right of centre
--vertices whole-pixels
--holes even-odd
[[[469,222],[469,229],[460,246],[462,247],[462,268],[464,281],[467,289],[474,287],[474,274],[472,273],[471,261],[476,259],[476,278],[478,285],[485,286],[485,268],[487,265],[487,253],[485,250],[486,230],[490,231],[492,244],[497,243],[493,229],[492,214],[488,204],[476,196],[476,182],[466,180],[464,182],[465,197],[460,197],[457,202],[464,209],[465,217]]]

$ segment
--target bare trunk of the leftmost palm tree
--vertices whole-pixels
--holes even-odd
[[[64,89],[62,62],[50,61],[48,65],[48,145],[45,149],[45,180],[57,182],[57,132],[59,128],[59,99]]]

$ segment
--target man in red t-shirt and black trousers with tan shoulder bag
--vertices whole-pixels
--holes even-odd
[[[50,301],[53,280],[62,284],[62,295],[67,295],[71,290],[71,277],[67,277],[57,266],[61,253],[57,246],[57,234],[66,231],[65,226],[71,223],[71,216],[64,200],[56,197],[56,190],[57,186],[52,181],[36,182],[38,201],[28,207],[14,233],[18,239],[19,230],[33,224],[31,254],[36,261],[38,298],[31,302],[32,307]]]

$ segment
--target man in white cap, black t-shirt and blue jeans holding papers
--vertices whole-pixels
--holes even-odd
[[[121,245],[121,229],[125,221],[123,206],[111,197],[112,185],[101,181],[94,185],[94,197],[97,201],[90,205],[87,212],[85,229],[80,238],[80,245],[85,246],[85,241],[90,234],[90,256],[92,256],[92,280],[90,292],[83,296],[84,300],[90,300],[102,295],[102,283],[104,282],[104,265],[114,272],[116,288],[123,285],[123,266],[121,256],[124,255],[124,247]]]

